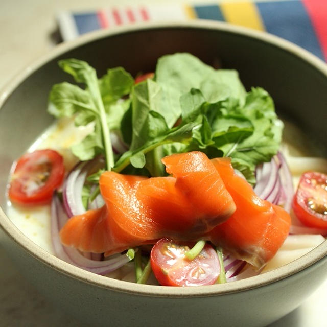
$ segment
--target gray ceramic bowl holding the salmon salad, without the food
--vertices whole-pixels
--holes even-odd
[[[277,113],[308,137],[327,144],[327,67],[308,52],[267,34],[216,22],[143,25],[97,32],[63,44],[27,67],[0,94],[0,204],[6,208],[10,166],[52,122],[46,113],[51,86],[67,76],[58,59],[75,57],[97,68],[151,71],[158,57],[190,52],[207,63],[219,58],[238,69],[245,86],[262,86]],[[39,248],[0,209],[2,245],[50,301],[89,325],[263,326],[286,315],[324,281],[327,243],[265,274],[195,288],[137,285],[98,276]]]

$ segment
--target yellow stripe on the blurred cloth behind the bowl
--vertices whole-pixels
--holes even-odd
[[[219,7],[225,21],[255,30],[265,30],[260,13],[254,3],[244,1],[221,3]]]

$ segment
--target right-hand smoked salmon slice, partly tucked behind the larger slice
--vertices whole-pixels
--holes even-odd
[[[284,243],[291,217],[283,208],[256,196],[252,186],[234,172],[229,158],[212,162],[235,201],[236,211],[210,231],[208,239],[260,269]]]

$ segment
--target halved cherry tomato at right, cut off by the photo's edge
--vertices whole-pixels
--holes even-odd
[[[327,175],[306,172],[302,174],[293,198],[293,211],[306,226],[327,227]]]

